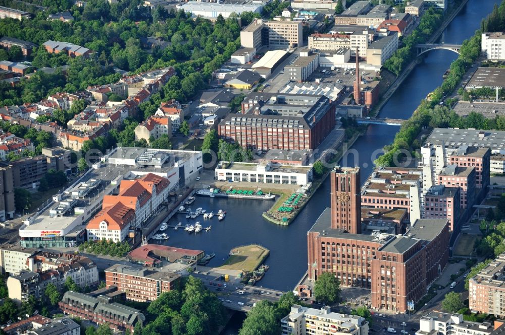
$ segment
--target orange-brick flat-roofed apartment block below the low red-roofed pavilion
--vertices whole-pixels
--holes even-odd
[[[105,270],[107,287],[117,286],[133,301],[154,301],[179,285],[180,275],[148,270],[141,266],[116,264]]]

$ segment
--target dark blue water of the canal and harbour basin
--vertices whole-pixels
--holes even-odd
[[[476,29],[479,29],[481,19],[499,2],[499,0],[470,0],[444,31],[442,40],[445,43],[461,43],[468,39]],[[441,84],[443,73],[456,58],[457,54],[448,50],[429,52],[396,90],[380,111],[380,116],[409,118],[420,101]],[[361,180],[364,182],[373,169],[374,151],[391,143],[398,128],[390,125],[370,125],[366,134],[351,148],[355,154],[349,154],[347,161],[340,164],[359,165]],[[219,266],[231,248],[259,243],[270,249],[271,253],[266,260],[270,270],[258,285],[277,290],[292,289],[307,271],[307,231],[322,211],[329,207],[329,188],[327,179],[288,227],[277,226],[262,219],[261,213],[272,205],[271,201],[197,197],[191,206],[193,209],[202,207],[214,212],[224,209],[228,211],[226,218],[222,222],[218,222],[217,217],[206,220],[204,226],[212,225],[212,230],[197,235],[189,235],[180,230],[177,232],[167,230],[170,240],[166,244],[215,252],[216,257],[209,265]],[[264,188],[266,189],[268,188]],[[200,221],[204,221],[201,216],[199,218]],[[170,224],[179,221],[184,225],[186,219],[182,216],[175,217]],[[237,333],[241,320],[230,322],[224,333]]]

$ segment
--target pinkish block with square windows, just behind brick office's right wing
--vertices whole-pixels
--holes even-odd
[[[424,195],[424,209],[422,217],[425,219],[449,220],[449,229],[452,232],[460,231],[460,187],[445,187],[444,185],[432,186]]]

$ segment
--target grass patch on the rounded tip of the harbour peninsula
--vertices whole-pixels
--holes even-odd
[[[260,266],[270,251],[258,244],[244,245],[233,248],[230,256],[220,266],[224,270],[245,270],[254,271]]]

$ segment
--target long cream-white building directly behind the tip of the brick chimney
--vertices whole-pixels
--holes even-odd
[[[366,57],[369,44],[374,40],[374,32],[367,26],[334,26],[329,34],[312,34],[309,36],[309,49],[324,51],[349,48],[351,56]]]

